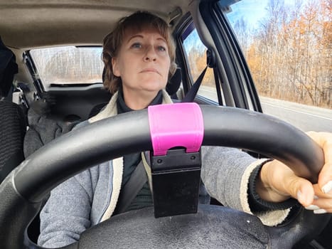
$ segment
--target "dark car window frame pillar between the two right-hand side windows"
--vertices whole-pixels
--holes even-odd
[[[215,44],[220,80],[230,88],[234,106],[262,112],[255,84],[245,57],[225,18],[224,6],[218,2],[204,2],[199,6],[202,19]],[[224,71],[221,70],[224,69]],[[225,88],[223,86],[223,89]],[[227,90],[224,90],[227,95]],[[225,96],[227,98],[227,96]],[[227,100],[226,100],[227,104]]]

